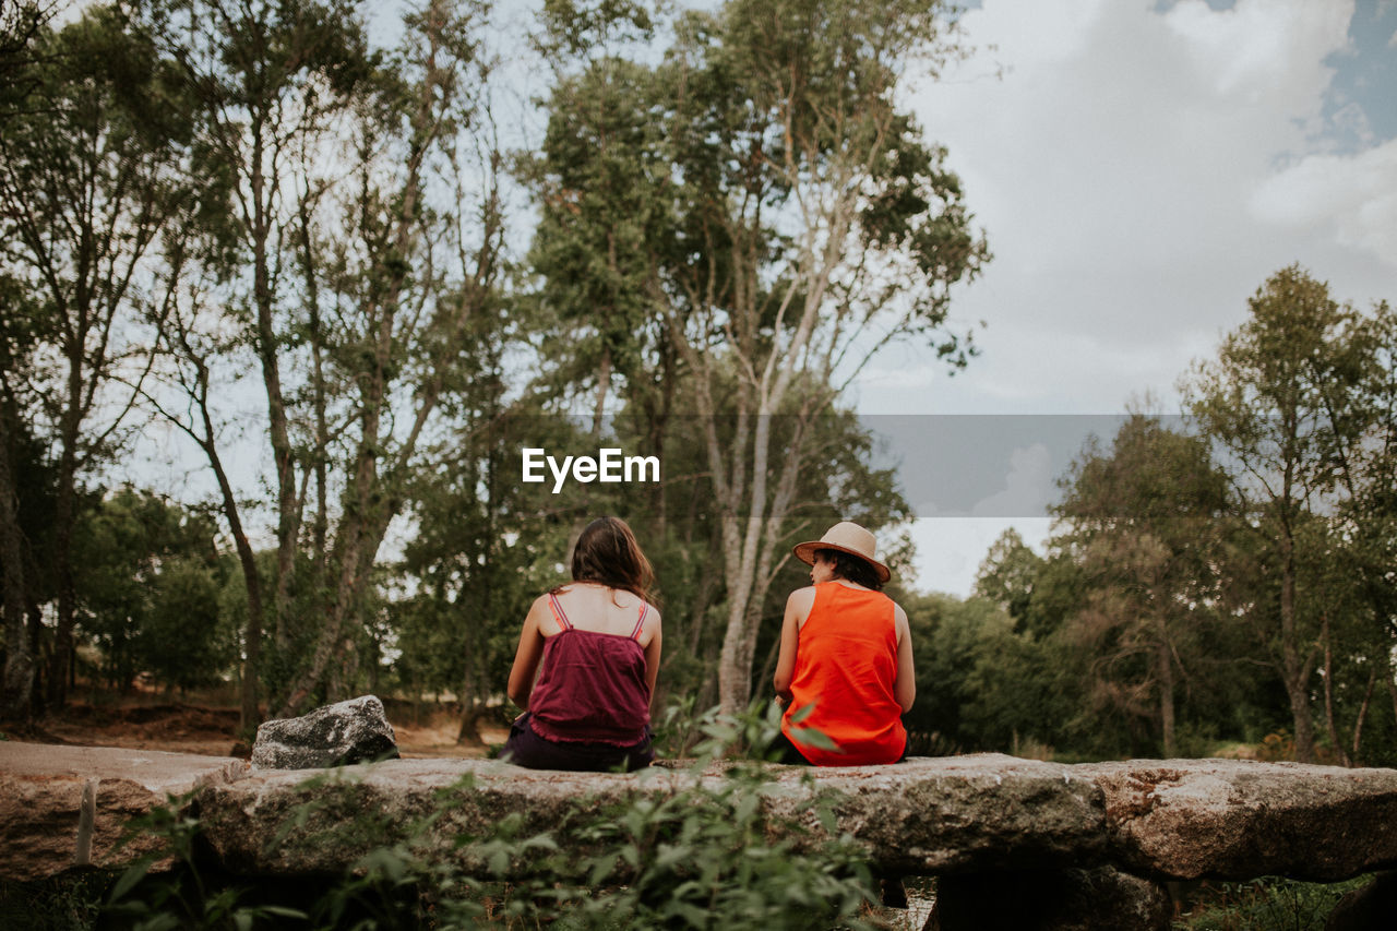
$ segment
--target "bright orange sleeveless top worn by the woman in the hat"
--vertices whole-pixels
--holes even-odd
[[[814,587],[810,616],[800,626],[791,679],[791,705],[781,731],[816,766],[895,763],[907,751],[897,679],[897,622],[882,591],[838,582]],[[792,719],[812,707],[799,723]],[[820,731],[837,749],[805,744],[805,728]]]

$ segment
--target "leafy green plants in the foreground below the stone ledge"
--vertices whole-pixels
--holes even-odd
[[[288,892],[219,876],[200,863],[200,823],[172,798],[133,825],[179,864],[152,874],[154,857],[112,888],[105,913],[123,927],[165,928],[862,928],[876,900],[858,844],[838,829],[837,797],[812,791],[799,819],[766,804],[785,791],[761,762],[780,728],[774,709],[704,714],[693,732],[685,787],[598,808],[578,798],[548,832],[510,814],[440,846],[443,819],[475,793],[467,776],[415,823],[393,825],[356,807],[355,786],[295,807],[275,844],[331,843],[367,850],[338,878]],[[721,774],[712,774],[721,770]],[[703,776],[708,772],[708,776]],[[334,773],[321,780],[339,780]],[[446,823],[455,825],[454,821]],[[317,833],[326,832],[328,833]]]

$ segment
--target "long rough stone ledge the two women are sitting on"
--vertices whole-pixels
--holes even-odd
[[[85,762],[45,767],[45,755],[59,751],[85,753]],[[179,769],[179,755],[133,753],[0,742],[0,798],[10,800],[0,875],[28,879],[74,864],[81,791],[94,779],[94,863],[116,865],[113,825],[140,808],[142,791],[149,805],[197,788],[193,804],[211,856],[247,875],[338,872],[369,847],[407,836],[443,801],[448,809],[420,839],[446,858],[462,856],[457,837],[486,833],[510,812],[522,816],[522,832],[566,833],[578,802],[662,798],[724,779],[721,769],[623,776],[441,759],[258,770],[212,758],[183,758],[186,772],[175,777],[169,769]],[[152,760],[163,776],[154,777]],[[981,753],[773,773],[760,804],[803,823],[802,843],[820,843],[824,828],[810,815],[812,802],[831,794],[838,829],[875,867],[940,876],[943,928],[971,927],[965,914],[989,927],[986,903],[1007,910],[1004,927],[1122,927],[1132,914],[1123,927],[1162,928],[1168,879],[1337,881],[1397,865],[1397,770],[1218,759],[1065,766]],[[306,802],[314,805],[302,809]],[[288,833],[298,809],[313,814]],[[365,812],[380,815],[388,836],[344,830]],[[1030,900],[1038,924],[1011,914]],[[1085,914],[1090,903],[1108,914]]]

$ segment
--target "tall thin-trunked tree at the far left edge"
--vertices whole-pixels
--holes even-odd
[[[29,375],[57,460],[56,646],[49,699],[71,671],[75,589],[73,533],[82,474],[119,439],[149,368],[140,323],[158,319],[151,257],[189,197],[175,165],[187,124],[165,63],[106,7],[59,34],[41,34],[32,80],[20,82],[0,133],[0,257],[36,317]],[[6,365],[14,373],[17,359]],[[18,397],[7,387],[11,403]]]

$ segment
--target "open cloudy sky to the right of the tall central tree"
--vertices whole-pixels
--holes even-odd
[[[1179,411],[1268,275],[1397,301],[1397,0],[983,0],[963,25],[907,105],[995,254],[951,310],[979,356],[897,347],[851,398],[898,435],[915,587],[957,596],[1006,527],[1041,548],[1087,432]],[[936,454],[983,498],[929,486]]]

